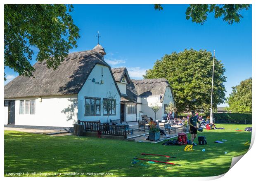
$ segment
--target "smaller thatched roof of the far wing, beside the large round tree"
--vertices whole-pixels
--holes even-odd
[[[131,79],[138,96],[160,95],[160,102],[164,100],[166,87],[170,87],[166,79]]]

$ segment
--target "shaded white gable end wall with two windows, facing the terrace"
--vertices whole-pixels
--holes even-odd
[[[103,70],[103,78],[101,74]],[[95,79],[95,82],[92,82]],[[104,84],[100,84],[101,79]],[[90,73],[85,84],[78,93],[78,119],[81,121],[97,121],[102,123],[107,122],[107,116],[103,116],[103,98],[107,97],[107,93],[110,91],[111,95],[116,95],[116,115],[109,116],[109,119],[120,119],[120,95],[115,85],[115,80],[111,76],[109,68],[103,65],[95,65]],[[99,83],[99,84],[98,84]],[[100,116],[85,116],[85,96],[86,97],[100,97],[101,109]]]

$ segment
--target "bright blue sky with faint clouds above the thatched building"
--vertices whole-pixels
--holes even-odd
[[[242,12],[240,23],[228,25],[209,14],[201,26],[185,19],[187,5],[163,7],[156,11],[154,5],[74,5],[71,14],[81,38],[70,52],[92,49],[100,31],[105,60],[112,67],[127,67],[134,79],[142,79],[145,70],[165,54],[190,48],[215,49],[226,69],[226,96],[232,86],[251,77],[251,9]],[[35,62],[34,56],[31,64]],[[8,67],[5,73],[8,81],[18,75]]]

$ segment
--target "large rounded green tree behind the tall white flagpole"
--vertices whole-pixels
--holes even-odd
[[[173,52],[156,60],[154,67],[146,71],[145,79],[165,78],[173,88],[177,113],[197,109],[209,110],[211,106],[213,56],[206,50],[194,49]],[[225,68],[215,59],[213,82],[213,107],[224,103]]]

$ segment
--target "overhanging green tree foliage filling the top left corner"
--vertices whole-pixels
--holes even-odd
[[[5,66],[33,76],[29,60],[38,49],[36,60],[56,70],[80,37],[72,11],[72,5],[5,5]]]

